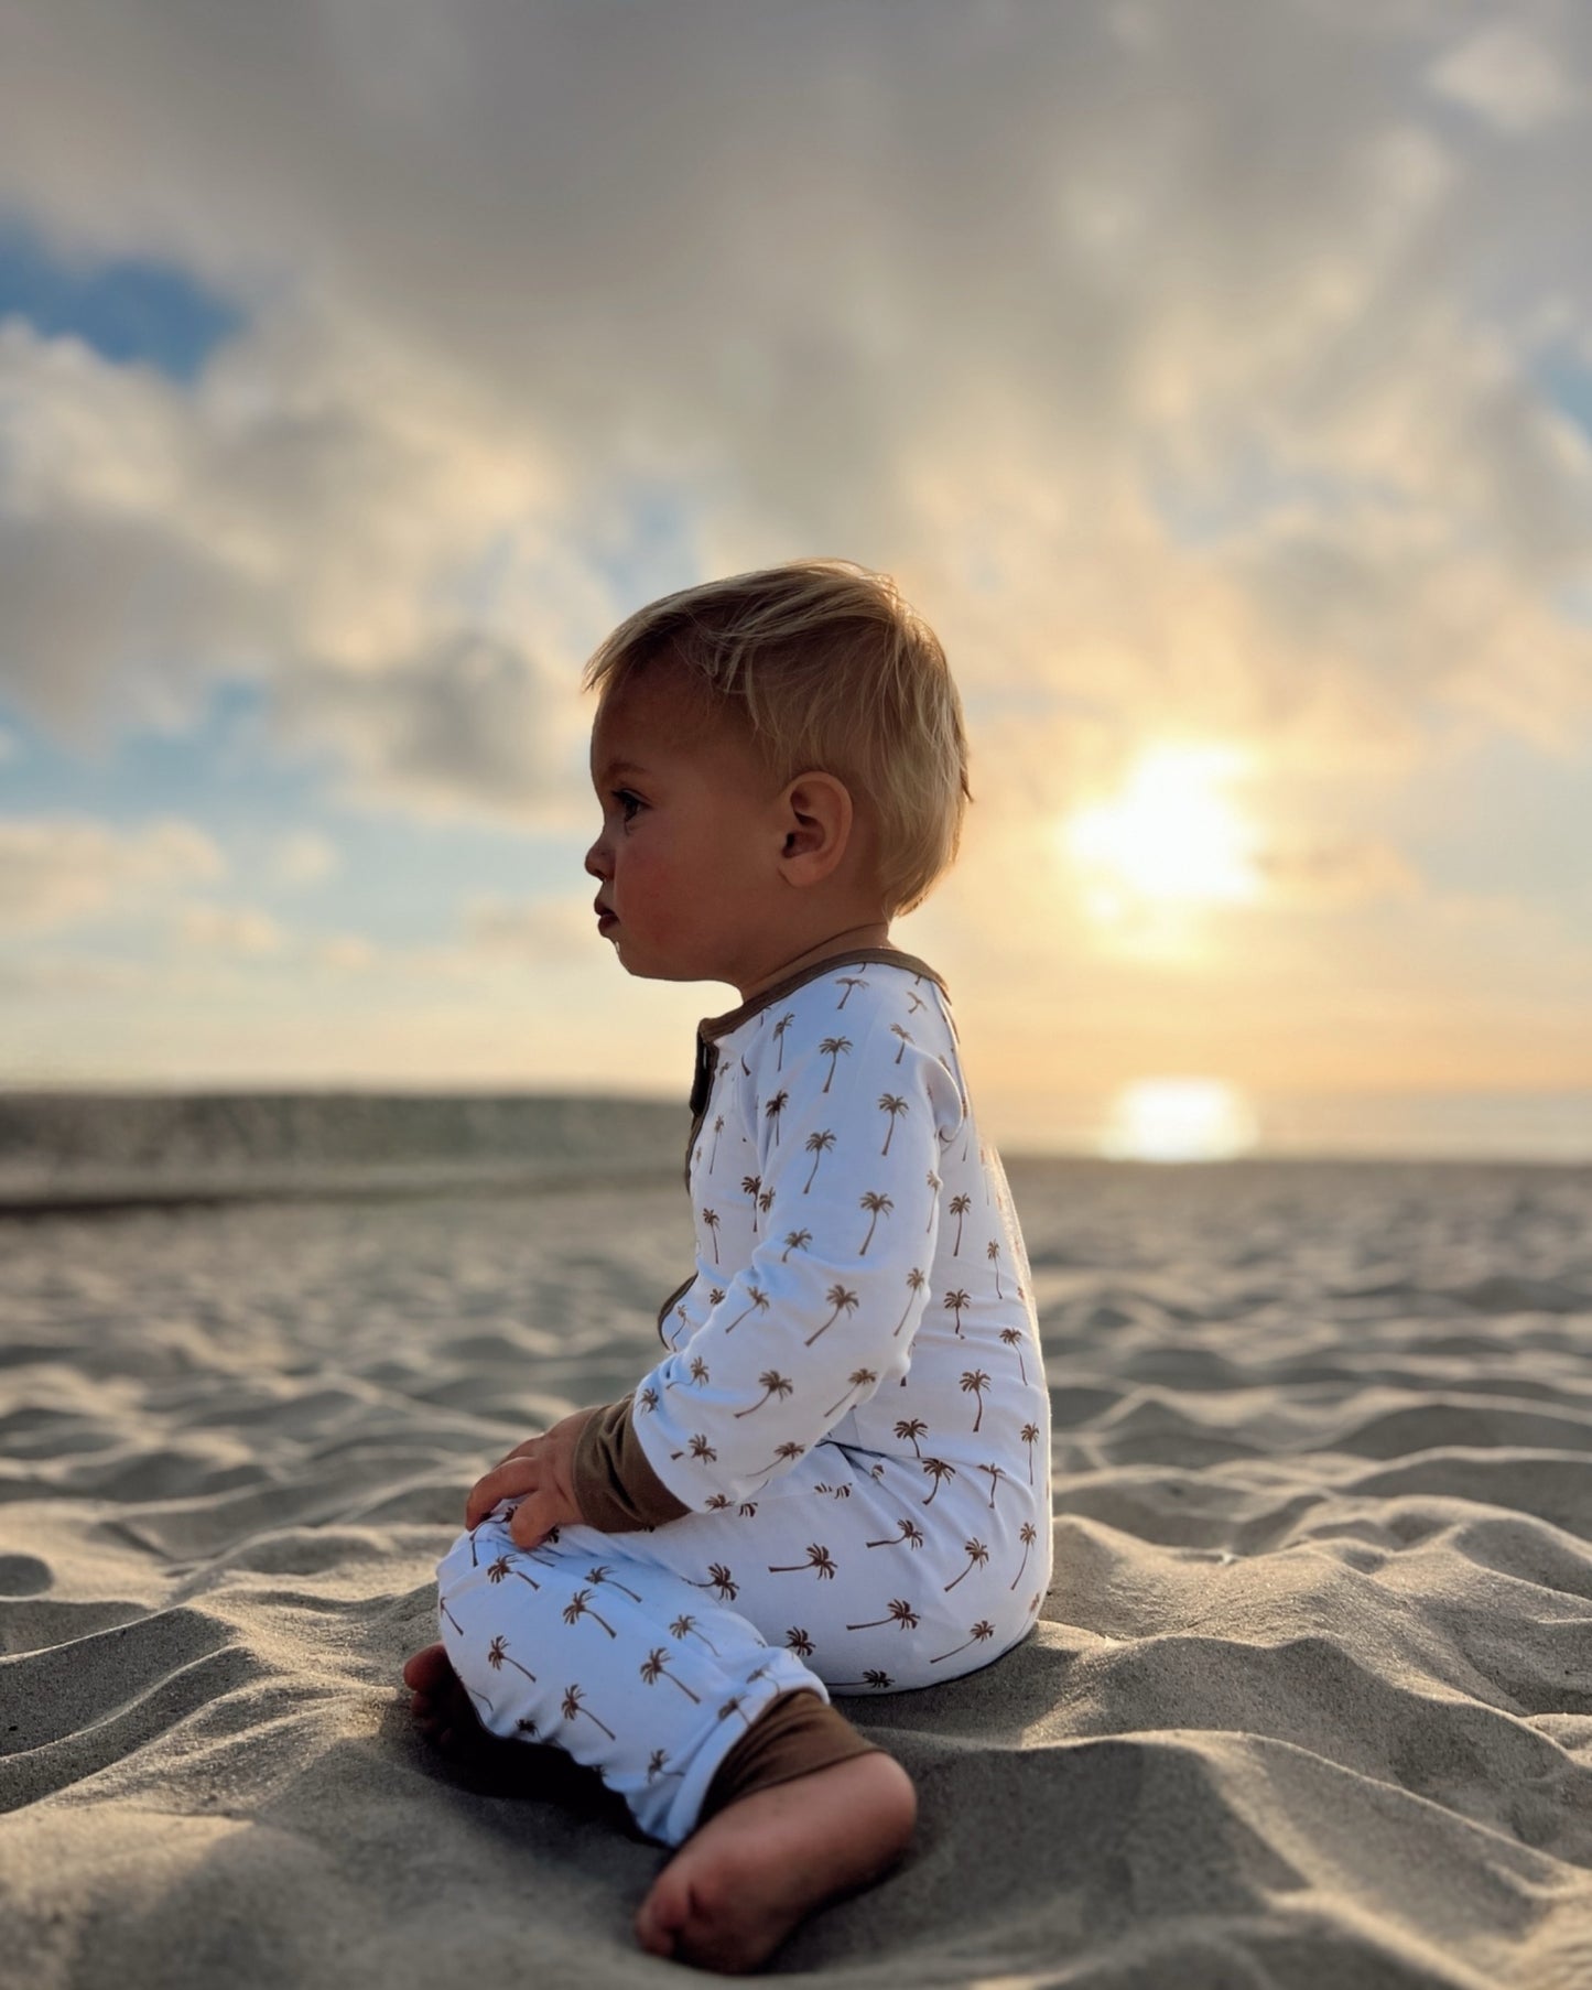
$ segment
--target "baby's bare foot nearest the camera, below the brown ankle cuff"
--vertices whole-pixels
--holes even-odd
[[[880,1879],[917,1819],[890,1755],[854,1755],[710,1817],[659,1873],[635,1916],[641,1946],[696,1968],[754,1970],[824,1900]]]

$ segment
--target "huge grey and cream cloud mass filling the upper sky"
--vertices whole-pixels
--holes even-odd
[[[1544,287],[1592,322],[1554,18],[689,0],[621,58],[601,10],[334,0],[241,64],[227,8],[62,0],[0,171],[251,322],[193,394],[4,328],[0,653],[62,726],[255,675],[360,794],[517,820],[619,613],[804,549],[894,567],[971,687],[1134,724],[1582,726],[1592,480],[1522,358]]]

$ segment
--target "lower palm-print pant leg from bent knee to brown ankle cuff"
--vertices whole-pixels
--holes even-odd
[[[499,1504],[438,1564],[442,1642],[482,1725],[599,1771],[665,1845],[696,1827],[724,1757],[790,1692],[828,1701],[710,1590],[625,1554],[625,1536],[523,1550]],[[593,1552],[591,1544],[597,1544]]]

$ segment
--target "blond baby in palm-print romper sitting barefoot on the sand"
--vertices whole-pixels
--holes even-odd
[[[830,1695],[991,1664],[1051,1576],[1023,1238],[945,985],[890,945],[955,858],[967,746],[933,633],[838,559],[669,595],[585,683],[599,931],[742,995],[696,1041],[695,1270],[631,1395],[474,1487],[404,1678],[434,1731],[468,1695],[595,1767],[677,1847],[643,1948],[750,1970],[911,1835]]]

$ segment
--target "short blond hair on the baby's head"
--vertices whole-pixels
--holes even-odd
[[[780,780],[816,770],[852,788],[878,826],[892,915],[955,862],[973,798],[961,698],[939,637],[888,573],[790,559],[683,587],[623,621],[581,687],[607,702],[655,661],[740,716]]]

